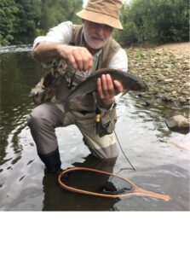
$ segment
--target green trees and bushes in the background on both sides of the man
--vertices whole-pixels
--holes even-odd
[[[80,23],[80,0],[0,0],[0,44],[32,44],[64,20]],[[120,44],[183,42],[189,35],[188,0],[133,0],[121,14]]]

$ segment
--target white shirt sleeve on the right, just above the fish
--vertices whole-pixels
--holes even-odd
[[[118,52],[113,55],[108,68],[122,69],[122,71],[128,71],[128,57],[124,49],[118,49]]]

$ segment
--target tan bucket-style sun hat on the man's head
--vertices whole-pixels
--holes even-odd
[[[77,13],[78,17],[95,23],[123,29],[119,20],[122,0],[89,0],[85,9]]]

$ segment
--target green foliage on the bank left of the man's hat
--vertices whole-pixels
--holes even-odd
[[[32,44],[37,35],[64,20],[81,22],[75,13],[82,0],[0,0],[0,44]]]

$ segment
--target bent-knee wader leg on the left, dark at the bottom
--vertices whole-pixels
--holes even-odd
[[[60,169],[60,153],[55,128],[63,126],[63,119],[63,113],[52,103],[37,106],[27,117],[28,126],[37,145],[37,154],[49,172]]]

